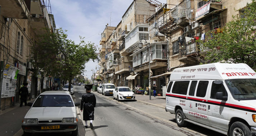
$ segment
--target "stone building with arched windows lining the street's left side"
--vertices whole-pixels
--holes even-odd
[[[0,110],[19,102],[19,88],[28,83],[29,98],[35,98],[46,90],[53,78],[40,72],[33,75],[32,45],[49,29],[56,32],[56,25],[49,0],[0,1],[0,61],[1,99]]]

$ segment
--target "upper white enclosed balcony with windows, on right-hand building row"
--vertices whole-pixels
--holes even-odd
[[[137,25],[133,30],[131,30],[125,38],[125,51],[131,53],[132,51],[139,48],[139,39],[144,38],[149,43],[149,34],[147,24]],[[140,31],[140,29],[143,29]]]

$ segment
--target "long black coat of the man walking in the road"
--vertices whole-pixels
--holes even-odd
[[[81,110],[84,120],[94,120],[94,107],[96,106],[96,97],[92,93],[85,93],[81,99]]]

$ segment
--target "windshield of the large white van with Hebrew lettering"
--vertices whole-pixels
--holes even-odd
[[[225,82],[234,99],[256,99],[256,79],[228,79]]]

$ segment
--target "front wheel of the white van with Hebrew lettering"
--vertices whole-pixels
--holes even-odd
[[[229,135],[230,136],[252,136],[252,132],[250,131],[248,126],[246,126],[244,123],[234,122],[230,127]]]

